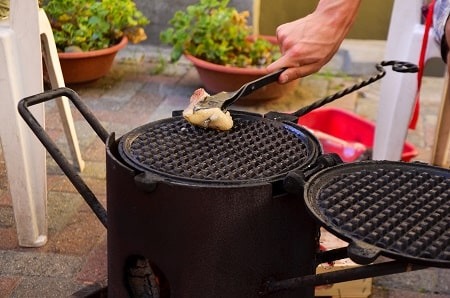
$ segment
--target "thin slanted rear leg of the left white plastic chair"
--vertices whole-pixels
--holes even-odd
[[[58,54],[51,31],[50,23],[43,10],[39,11],[39,26],[41,31],[42,53],[47,67],[47,72],[50,78],[52,88],[64,87],[64,77],[61,71],[61,66],[58,60]],[[72,112],[70,110],[69,100],[66,97],[61,97],[56,101],[59,115],[63,124],[64,132],[70,148],[70,153],[74,166],[78,170],[83,171],[84,160],[81,157],[78,137],[73,123]]]

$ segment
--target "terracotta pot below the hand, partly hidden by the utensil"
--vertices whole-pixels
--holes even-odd
[[[273,43],[276,42],[274,37],[265,38]],[[185,57],[194,64],[200,76],[200,80],[203,83],[203,87],[210,94],[215,94],[221,91],[237,90],[243,84],[267,74],[264,68],[225,66],[211,63],[189,54],[185,54]],[[272,83],[256,90],[243,99],[250,101],[279,98],[291,92],[297,85],[297,80],[283,85]]]

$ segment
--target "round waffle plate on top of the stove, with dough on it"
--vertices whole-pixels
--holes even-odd
[[[241,184],[283,179],[321,154],[306,129],[247,113],[233,114],[229,131],[204,129],[183,117],[136,128],[119,142],[130,166],[164,177],[195,182]]]

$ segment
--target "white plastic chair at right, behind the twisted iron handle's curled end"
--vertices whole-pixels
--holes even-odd
[[[395,0],[387,37],[385,59],[418,63],[425,26],[421,24],[423,0]],[[425,62],[441,57],[433,28],[429,31]],[[387,71],[381,80],[373,158],[400,160],[414,111],[417,74]]]

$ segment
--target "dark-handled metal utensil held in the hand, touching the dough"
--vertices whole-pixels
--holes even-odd
[[[195,105],[194,111],[211,108],[220,108],[221,110],[226,111],[227,108],[235,103],[239,98],[249,95],[250,93],[268,84],[278,81],[278,77],[285,70],[286,68],[281,68],[254,81],[248,82],[236,91],[222,91],[217,94],[207,96]]]

